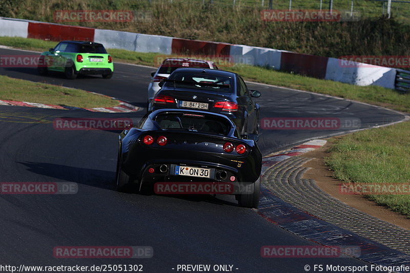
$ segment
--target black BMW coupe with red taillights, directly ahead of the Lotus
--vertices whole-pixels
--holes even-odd
[[[232,119],[240,134],[258,133],[259,104],[236,73],[201,68],[178,68],[164,79],[154,97],[153,110],[196,109],[223,114]]]

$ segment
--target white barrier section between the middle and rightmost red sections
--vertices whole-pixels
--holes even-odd
[[[270,67],[275,70],[280,69],[281,50],[232,45],[230,54],[235,64]]]

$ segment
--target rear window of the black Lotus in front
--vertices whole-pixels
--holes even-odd
[[[159,114],[155,120],[161,129],[192,130],[224,136],[228,135],[231,129],[229,121],[225,118],[200,114]]]

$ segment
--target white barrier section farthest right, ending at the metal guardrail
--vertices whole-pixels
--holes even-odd
[[[340,59],[329,58],[325,79],[357,86],[376,85],[394,89],[396,69],[362,64],[361,62],[346,63]]]

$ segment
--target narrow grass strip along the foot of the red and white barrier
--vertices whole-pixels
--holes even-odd
[[[45,51],[50,47],[54,47],[56,44],[56,42],[37,39],[0,37],[0,45],[36,51]],[[159,53],[139,53],[122,49],[107,49],[107,51],[111,54],[114,61],[154,67],[157,66],[157,64],[155,64],[156,56],[165,56]],[[252,81],[301,89],[320,94],[329,94],[410,113],[410,93],[399,94],[394,90],[378,86],[360,87],[348,85],[347,83],[305,77],[261,67],[233,66],[221,68],[239,73],[245,79]]]

